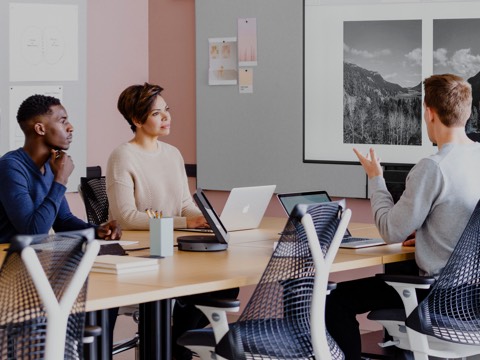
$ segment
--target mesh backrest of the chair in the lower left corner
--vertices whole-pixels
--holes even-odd
[[[47,311],[49,307],[42,301],[37,291],[38,284],[37,286],[34,284],[25,266],[25,248],[34,249],[34,254],[45,272],[56,299],[61,302],[65,299],[68,289],[71,291],[69,284],[84,257],[86,243],[89,241],[87,237],[93,238],[93,231],[80,234],[77,232],[17,236],[12,239],[0,269],[0,288],[2,289],[0,292],[0,358],[53,358],[46,353],[47,328],[48,331],[53,331],[51,329],[56,326],[56,323],[49,320],[52,316]],[[96,252],[98,252],[98,244]],[[92,257],[92,263],[95,255]],[[86,271],[88,274],[89,269]],[[65,345],[64,359],[83,359],[82,338],[87,281],[84,279],[80,281],[84,283],[83,286],[80,285],[81,291],[74,299],[69,312],[66,334],[62,327],[61,335],[56,339],[56,352],[61,350],[63,344]],[[45,290],[47,287],[42,288]]]

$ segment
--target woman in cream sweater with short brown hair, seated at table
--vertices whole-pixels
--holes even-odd
[[[175,228],[208,227],[190,194],[182,155],[174,146],[158,140],[170,133],[171,124],[168,105],[160,95],[162,90],[148,83],[132,85],[118,99],[118,110],[134,135],[110,155],[106,181],[110,217],[124,230],[148,230],[146,209],[172,216]],[[228,289],[208,296],[236,298],[238,291]],[[190,350],[176,344],[177,338],[207,324],[188,296],[176,299],[172,328],[175,360],[192,358]]]

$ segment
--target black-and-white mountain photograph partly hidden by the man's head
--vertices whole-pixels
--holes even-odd
[[[472,85],[472,115],[467,134],[480,141],[480,19],[433,21],[433,72],[452,73]]]

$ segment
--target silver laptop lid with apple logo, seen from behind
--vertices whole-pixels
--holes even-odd
[[[233,188],[220,215],[228,231],[256,229],[262,221],[276,185]]]

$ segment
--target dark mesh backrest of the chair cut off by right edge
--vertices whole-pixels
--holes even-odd
[[[480,345],[480,202],[429,295],[406,324],[446,341]]]

